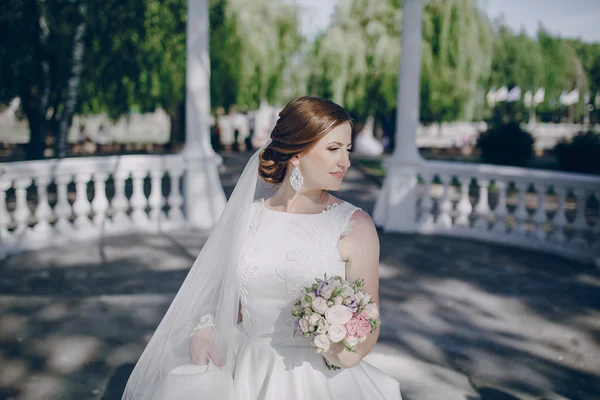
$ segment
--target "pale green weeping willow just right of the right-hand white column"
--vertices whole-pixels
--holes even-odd
[[[473,119],[494,32],[474,0],[430,0],[423,17],[421,119]]]

